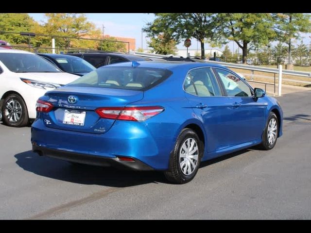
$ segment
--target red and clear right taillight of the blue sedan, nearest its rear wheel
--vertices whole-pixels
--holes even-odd
[[[98,108],[95,110],[95,112],[102,118],[132,120],[132,121],[144,121],[163,111],[164,108],[159,106],[125,107],[125,108],[107,107],[107,108]]]

